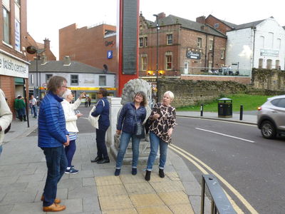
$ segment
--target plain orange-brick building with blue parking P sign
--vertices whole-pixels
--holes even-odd
[[[116,52],[116,27],[101,24],[78,29],[71,24],[59,30],[59,60],[70,56],[72,61],[80,61],[90,66],[118,71]]]

